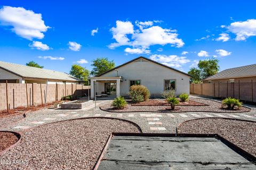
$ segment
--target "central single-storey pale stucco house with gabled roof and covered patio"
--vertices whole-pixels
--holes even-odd
[[[176,94],[189,94],[190,75],[161,63],[138,57],[91,78],[91,97],[96,95],[128,96],[130,86],[146,86],[151,96],[161,96],[165,90],[174,89]]]

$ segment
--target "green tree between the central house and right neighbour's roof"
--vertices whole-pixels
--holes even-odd
[[[201,83],[201,80],[218,73],[219,60],[211,58],[206,60],[200,60],[197,67],[193,67],[188,71],[188,74],[192,75],[191,82]]]

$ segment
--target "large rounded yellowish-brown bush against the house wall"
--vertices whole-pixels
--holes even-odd
[[[138,103],[148,100],[150,97],[150,92],[146,86],[133,85],[130,87],[129,95],[133,102]]]

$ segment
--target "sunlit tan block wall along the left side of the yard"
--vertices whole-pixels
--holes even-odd
[[[90,86],[82,84],[48,84],[46,103],[60,101],[62,97],[72,95],[79,98],[88,95]],[[89,90],[90,91],[90,90]],[[0,111],[20,106],[45,104],[46,84],[37,83],[0,83]]]

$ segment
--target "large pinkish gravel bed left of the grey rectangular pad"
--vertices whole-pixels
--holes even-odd
[[[25,132],[19,145],[0,156],[28,164],[4,169],[92,169],[111,132],[140,132],[129,122],[86,118],[38,126]]]

